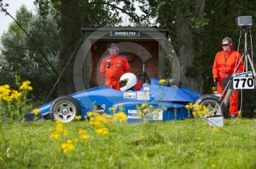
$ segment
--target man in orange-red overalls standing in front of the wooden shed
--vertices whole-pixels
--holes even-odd
[[[99,73],[105,76],[105,84],[113,89],[120,90],[119,79],[121,75],[130,72],[128,60],[125,55],[118,54],[117,44],[110,44],[109,55],[102,59]]]

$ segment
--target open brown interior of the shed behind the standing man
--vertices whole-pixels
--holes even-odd
[[[102,58],[108,55],[108,45],[110,43],[118,44],[119,53],[127,56],[127,60],[138,80],[142,79],[143,61],[146,63],[146,73],[151,77],[159,76],[159,43],[155,40],[110,40],[99,39],[92,42],[91,46],[91,68],[90,68],[90,87],[96,87],[105,84],[105,77],[99,74],[99,66]]]

